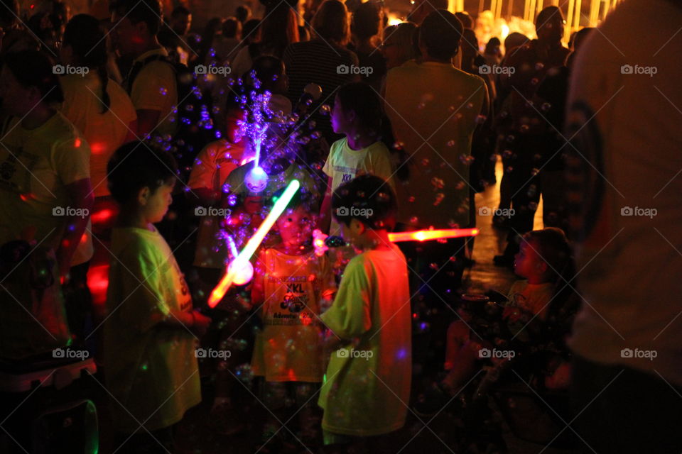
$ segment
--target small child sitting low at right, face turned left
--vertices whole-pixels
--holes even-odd
[[[571,298],[571,289],[567,285],[574,269],[565,233],[553,227],[526,233],[514,257],[514,272],[522,279],[511,284],[509,289],[508,301],[502,310],[502,323],[509,338],[500,338],[499,341],[556,341],[561,344],[558,345],[559,349],[565,350],[563,336],[568,334],[571,312],[575,309],[575,299]],[[459,392],[460,387],[475,374],[477,360],[485,357],[481,354],[482,348],[492,349],[502,345],[490,345],[489,341],[479,338],[475,334],[476,326],[472,326],[474,333],[470,331],[470,314],[462,311],[460,315],[462,319],[451,323],[448,328],[445,370],[449,372],[438,385],[440,391],[450,395]],[[556,339],[544,336],[543,327],[546,324],[551,324]],[[567,387],[570,378],[568,362],[555,361],[551,368],[546,386]],[[425,415],[433,414],[440,410],[438,401],[426,399],[416,405],[416,411]]]

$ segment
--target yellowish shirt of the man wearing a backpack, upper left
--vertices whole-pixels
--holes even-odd
[[[133,66],[136,62],[144,62],[152,55],[168,57],[168,52],[164,48],[149,50],[137,57]],[[160,135],[175,133],[177,114],[173,113],[173,109],[182,100],[178,100],[178,83],[171,65],[161,61],[148,62],[144,65],[133,81],[130,99],[136,110],[148,109],[159,112],[159,123],[154,133]]]

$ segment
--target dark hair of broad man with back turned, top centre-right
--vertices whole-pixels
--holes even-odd
[[[462,40],[462,23],[450,11],[439,9],[430,13],[419,27],[419,38],[430,57],[448,60],[454,57]]]

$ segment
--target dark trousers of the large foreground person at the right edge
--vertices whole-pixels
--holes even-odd
[[[583,358],[574,358],[572,366],[571,406],[577,416],[571,427],[582,452],[682,452],[682,387]]]

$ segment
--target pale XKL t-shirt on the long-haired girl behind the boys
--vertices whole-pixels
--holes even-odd
[[[383,142],[374,142],[362,150],[353,150],[348,146],[348,138],[337,140],[332,143],[323,172],[332,178],[332,191],[341,184],[365,174],[377,175],[395,189],[389,149]],[[341,235],[341,226],[333,216],[330,235]]]

